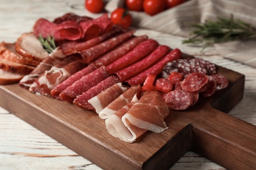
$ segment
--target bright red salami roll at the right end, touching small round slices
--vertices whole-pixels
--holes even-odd
[[[129,78],[125,82],[130,85],[138,85],[143,84],[148,75],[158,75],[161,73],[163,66],[170,61],[181,58],[181,50],[175,48],[169,54],[164,56],[160,61],[158,61],[155,65],[150,66],[148,69],[142,71],[141,73]]]

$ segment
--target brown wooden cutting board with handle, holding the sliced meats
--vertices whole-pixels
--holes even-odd
[[[184,153],[197,152],[228,169],[255,169],[256,127],[225,112],[243,97],[245,76],[217,67],[228,88],[183,111],[172,111],[169,129],[144,133],[135,143],[112,137],[92,111],[0,86],[0,106],[103,169],[169,169]]]

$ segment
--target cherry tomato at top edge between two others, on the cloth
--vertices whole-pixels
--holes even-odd
[[[165,0],[144,0],[144,11],[153,16],[165,10]]]

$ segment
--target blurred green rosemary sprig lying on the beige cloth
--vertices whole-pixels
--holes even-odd
[[[256,29],[242,20],[217,18],[216,21],[207,20],[205,23],[194,24],[192,37],[182,41],[183,44],[202,44],[203,49],[214,43],[251,39],[256,37]]]

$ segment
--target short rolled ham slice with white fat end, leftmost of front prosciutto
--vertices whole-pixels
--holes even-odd
[[[127,89],[127,86],[123,86],[121,83],[116,83],[110,88],[103,90],[95,97],[89,99],[88,102],[93,106],[93,108],[95,108],[95,112],[99,113],[119,95],[121,95],[123,92],[126,92]]]

